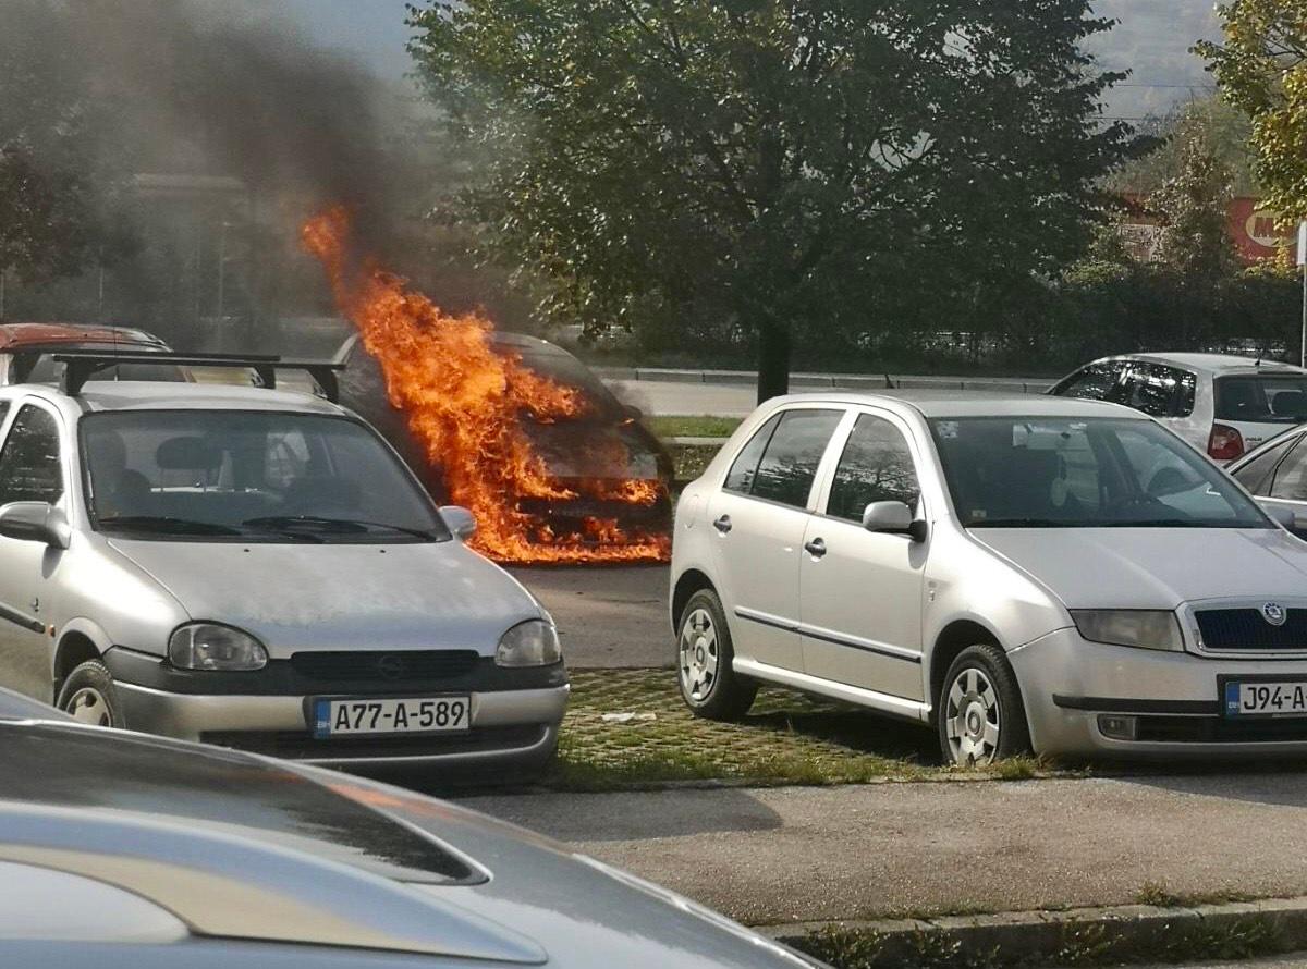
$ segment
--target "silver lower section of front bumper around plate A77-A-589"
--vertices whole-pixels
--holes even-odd
[[[566,684],[472,692],[472,727],[461,734],[316,740],[307,696],[216,696],[115,686],[131,730],[337,767],[540,764],[557,744],[570,692]]]

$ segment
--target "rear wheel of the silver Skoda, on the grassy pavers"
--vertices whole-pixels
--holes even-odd
[[[701,589],[685,603],[676,643],[676,682],[690,713],[707,720],[740,720],[749,712],[758,684],[733,669],[731,628],[715,592]]]

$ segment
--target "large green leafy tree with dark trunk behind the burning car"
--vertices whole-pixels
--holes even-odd
[[[541,310],[795,341],[988,313],[1087,240],[1132,151],[1089,0],[461,0],[412,13],[461,212]],[[945,324],[948,325],[948,324]]]

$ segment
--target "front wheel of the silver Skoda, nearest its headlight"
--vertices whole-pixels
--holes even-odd
[[[987,767],[1030,752],[1030,727],[1017,674],[1000,646],[967,646],[944,675],[940,750],[946,764]]]

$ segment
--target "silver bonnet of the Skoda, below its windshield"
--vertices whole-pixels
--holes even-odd
[[[1233,597],[1302,598],[1307,543],[1280,529],[971,529],[1068,609],[1175,609]]]

